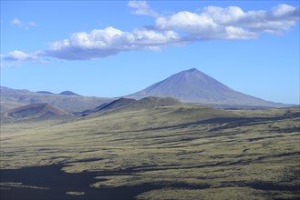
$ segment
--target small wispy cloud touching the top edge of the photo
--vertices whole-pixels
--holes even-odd
[[[132,9],[132,14],[135,15],[159,16],[158,13],[150,8],[146,1],[129,1],[128,6]]]

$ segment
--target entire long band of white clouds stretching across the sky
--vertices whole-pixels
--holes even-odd
[[[181,11],[159,15],[145,1],[129,1],[135,15],[150,15],[154,24],[124,32],[114,27],[79,32],[50,43],[43,56],[64,60],[88,60],[132,50],[160,51],[174,45],[202,40],[247,40],[261,34],[283,35],[299,20],[299,7],[276,5],[271,10],[243,11],[238,6],[207,6],[198,12]],[[12,24],[20,25],[18,19]],[[36,61],[39,55],[20,51],[2,55],[2,59]]]

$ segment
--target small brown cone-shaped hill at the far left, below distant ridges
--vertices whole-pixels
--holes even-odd
[[[70,115],[49,104],[32,104],[17,107],[5,112],[5,117],[13,119],[33,119],[33,118],[55,118],[64,115]]]

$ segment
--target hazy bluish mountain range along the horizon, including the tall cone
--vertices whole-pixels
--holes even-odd
[[[199,70],[192,68],[171,75],[159,83],[150,85],[140,92],[132,95],[117,98],[88,97],[75,94],[71,91],[64,91],[60,94],[52,94],[47,91],[30,92],[28,90],[16,90],[8,87],[0,87],[1,92],[1,113],[16,107],[31,104],[49,104],[69,113],[89,115],[98,111],[110,110],[123,105],[139,107],[144,105],[165,104],[180,100],[184,103],[194,103],[201,105],[212,105],[224,108],[262,108],[262,107],[284,107],[284,105],[265,101],[252,95],[245,95],[232,88],[223,85],[209,75],[205,75]],[[166,99],[156,99],[154,97],[171,97]],[[150,101],[148,104],[147,101]],[[178,100],[177,100],[178,99]]]

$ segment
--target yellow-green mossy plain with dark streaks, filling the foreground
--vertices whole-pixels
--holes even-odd
[[[299,114],[180,104],[2,124],[1,169],[93,172],[99,191],[155,185],[136,199],[298,199]]]

